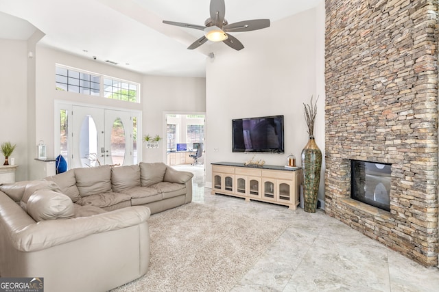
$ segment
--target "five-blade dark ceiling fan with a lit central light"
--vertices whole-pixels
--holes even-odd
[[[228,24],[224,18],[226,5],[224,0],[211,0],[211,17],[204,21],[202,25],[191,25],[189,23],[176,23],[175,21],[163,21],[167,25],[176,25],[178,27],[187,27],[191,29],[200,29],[204,31],[204,36],[195,40],[187,49],[193,50],[200,47],[207,40],[212,42],[224,42],[228,47],[237,51],[244,49],[244,45],[231,36],[230,32],[252,31],[270,27],[270,19],[253,19],[251,21],[239,21],[237,23]]]

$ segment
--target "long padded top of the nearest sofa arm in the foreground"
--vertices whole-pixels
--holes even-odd
[[[40,221],[12,232],[12,245],[23,252],[44,250],[95,233],[142,224],[149,217],[149,208],[134,206],[90,217]]]

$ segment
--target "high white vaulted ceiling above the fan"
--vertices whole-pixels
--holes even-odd
[[[313,8],[320,1],[226,0],[226,19],[235,23],[269,18],[273,23]],[[203,32],[165,25],[162,21],[204,25],[209,18],[209,3],[209,0],[0,0],[0,38],[27,40],[40,29],[45,34],[40,43],[45,46],[82,57],[95,56],[97,62],[110,60],[121,68],[146,75],[204,77],[206,56],[215,46],[226,44],[209,42],[193,51],[187,50]]]

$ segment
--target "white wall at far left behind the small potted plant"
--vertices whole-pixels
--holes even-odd
[[[0,39],[0,144],[16,144],[11,155],[16,180],[27,178],[27,42]],[[0,165],[4,157],[0,153]]]

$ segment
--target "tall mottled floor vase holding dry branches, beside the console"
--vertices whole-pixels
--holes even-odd
[[[313,97],[305,107],[305,121],[308,126],[309,140],[302,150],[303,193],[305,198],[305,212],[315,213],[317,209],[318,187],[320,184],[320,169],[322,168],[322,151],[314,140],[314,122],[317,114],[317,101],[313,105]]]

